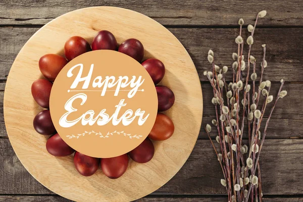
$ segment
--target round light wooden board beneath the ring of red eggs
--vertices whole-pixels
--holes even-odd
[[[73,156],[58,158],[47,153],[48,136],[33,128],[42,110],[32,95],[31,84],[42,75],[39,58],[64,54],[65,41],[74,35],[91,43],[100,30],[109,30],[120,44],[137,38],[145,48],[144,59],[157,58],[166,67],[161,84],[175,93],[174,106],[165,112],[175,124],[173,136],[155,141],[155,156],[146,164],[130,161],[126,173],[109,179],[101,169],[91,177],[75,169]],[[183,166],[197,140],[203,113],[201,85],[194,64],[178,39],[158,22],[140,13],[92,7],[67,13],[39,29],[23,46],[10,71],[4,95],[4,117],[16,155],[28,172],[48,189],[76,201],[130,201],[164,185]]]

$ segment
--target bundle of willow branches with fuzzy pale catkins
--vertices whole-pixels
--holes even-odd
[[[258,19],[265,16],[266,11],[261,11],[257,15],[255,25],[247,26],[248,32],[251,32],[251,35],[246,40],[248,44],[247,63],[245,63],[244,56],[242,55],[244,40],[241,32],[244,21],[240,19],[240,33],[235,39],[238,45],[238,53],[232,54],[232,58],[235,61],[232,64],[232,70],[228,71],[227,66],[221,69],[216,65],[214,52],[210,50],[208,61],[212,64],[212,71],[204,72],[214,91],[212,103],[216,109],[216,119],[212,120],[212,124],[217,128],[219,133],[216,137],[220,145],[219,152],[210,137],[211,125],[207,124],[205,130],[212,142],[223,171],[224,179],[221,179],[221,184],[226,187],[228,201],[232,202],[258,201],[258,198],[262,201],[259,157],[273,110],[279,98],[283,98],[287,94],[286,90],[282,90],[284,84],[284,80],[282,79],[276,100],[261,135],[261,122],[267,105],[273,101],[273,95],[270,95],[271,82],[269,80],[262,80],[264,69],[267,67],[265,60],[266,45],[262,45],[263,59],[261,62],[260,77],[256,73],[257,60],[250,55],[250,50],[254,43],[254,32]],[[248,84],[250,65],[253,67],[252,74],[250,75],[252,87],[250,86],[251,82]],[[230,82],[228,85],[225,81],[227,72],[233,73],[233,82]],[[258,77],[259,83],[257,84]],[[261,95],[265,97],[263,104],[259,103]],[[225,97],[227,102],[224,102]],[[246,120],[244,119],[245,117],[247,117]],[[243,131],[244,122],[248,124],[247,132]],[[248,135],[248,145],[242,142],[243,134]]]

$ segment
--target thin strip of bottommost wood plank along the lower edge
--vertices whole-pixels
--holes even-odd
[[[298,202],[302,201],[302,198],[298,197],[289,197],[289,198],[266,198],[264,197],[265,202]],[[10,195],[3,195],[0,196],[0,202],[15,202],[15,201],[25,201],[25,202],[65,202],[65,201],[72,201],[61,196],[10,196]],[[227,197],[224,196],[193,196],[193,197],[180,197],[180,196],[157,196],[153,197],[153,195],[149,195],[147,197],[140,198],[135,200],[136,202],[158,202],[158,201],[180,201],[180,202],[222,202],[227,201]]]

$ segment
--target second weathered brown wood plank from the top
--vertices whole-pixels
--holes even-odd
[[[38,28],[0,28],[0,80],[6,79],[11,66],[25,42]],[[209,49],[215,52],[215,61],[219,66],[231,66],[231,54],[237,52],[234,42],[238,29],[169,29],[185,46],[190,54],[201,81],[207,81],[203,75],[211,66],[207,61]],[[303,53],[303,28],[288,29],[258,29],[255,32],[255,44],[252,46],[252,55],[258,60],[257,73],[260,75],[262,59],[261,44],[267,44],[266,60],[268,67],[264,72],[264,79],[280,81],[301,81],[301,58]],[[244,36],[247,36],[244,30]],[[293,39],[296,40],[293,40]],[[63,47],[63,44],[62,44]],[[247,56],[247,46],[244,45],[243,54]],[[38,65],[37,65],[38,67]],[[231,73],[227,80],[231,80]]]

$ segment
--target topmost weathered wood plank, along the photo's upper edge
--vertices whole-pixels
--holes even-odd
[[[0,2],[0,24],[45,24],[52,19],[85,7],[114,6],[131,9],[165,25],[235,25],[239,18],[252,23],[257,13],[267,10],[260,24],[269,26],[301,26],[302,7],[297,1],[95,1],[30,0]],[[249,9],[243,9],[243,8]],[[283,9],[281,9],[283,8]]]

